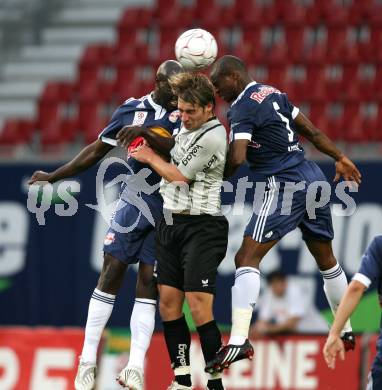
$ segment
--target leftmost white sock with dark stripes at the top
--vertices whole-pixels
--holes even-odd
[[[81,360],[95,363],[97,361],[98,344],[106,323],[113,311],[115,295],[95,289],[90,299],[88,319],[85,328],[85,341]]]

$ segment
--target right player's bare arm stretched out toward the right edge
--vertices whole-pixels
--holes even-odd
[[[342,176],[345,180],[361,184],[361,173],[354,163],[347,158],[322,131],[303,114],[294,119],[299,134],[308,139],[320,152],[327,154],[336,161],[336,176],[334,181]]]

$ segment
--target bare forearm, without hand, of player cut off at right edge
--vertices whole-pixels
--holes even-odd
[[[350,282],[345,295],[342,297],[341,303],[338,306],[329,334],[335,336],[340,335],[346,321],[350,318],[353,311],[360,302],[364,291],[365,286],[362,283],[356,280]]]

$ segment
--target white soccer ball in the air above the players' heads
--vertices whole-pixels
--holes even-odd
[[[217,54],[215,38],[201,28],[185,31],[175,43],[176,58],[186,70],[206,68],[215,61]]]

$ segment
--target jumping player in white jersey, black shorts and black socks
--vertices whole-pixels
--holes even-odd
[[[164,218],[156,226],[160,313],[174,370],[169,390],[192,389],[190,331],[182,313],[186,299],[207,362],[221,347],[212,305],[217,268],[228,240],[220,188],[227,153],[224,126],[214,115],[214,89],[202,74],[184,73],[170,81],[178,96],[182,128],[167,162],[151,149],[132,153],[163,180]],[[209,374],[209,390],[223,390],[221,374]]]

